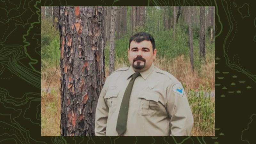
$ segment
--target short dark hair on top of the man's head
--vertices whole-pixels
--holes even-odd
[[[153,48],[153,51],[154,51],[155,50],[155,40],[154,40],[153,36],[151,36],[150,34],[145,33],[145,32],[139,32],[139,33],[133,35],[130,38],[130,40],[129,40],[129,49],[130,49],[130,44],[131,44],[132,41],[135,41],[136,43],[140,43],[144,40],[151,42],[152,48]]]

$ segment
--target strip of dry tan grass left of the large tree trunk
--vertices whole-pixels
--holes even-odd
[[[41,87],[41,136],[60,136],[60,69],[42,70]]]

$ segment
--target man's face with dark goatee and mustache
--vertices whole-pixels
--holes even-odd
[[[128,59],[134,71],[142,72],[152,65],[153,60],[156,58],[156,49],[154,52],[152,51],[153,47],[150,41],[131,42],[128,49]]]

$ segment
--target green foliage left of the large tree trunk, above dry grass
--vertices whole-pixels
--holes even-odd
[[[60,63],[60,38],[51,20],[42,20],[41,47],[42,68],[57,67]]]

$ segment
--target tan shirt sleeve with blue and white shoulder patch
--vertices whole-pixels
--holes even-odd
[[[171,117],[170,136],[189,136],[194,119],[186,93],[180,83],[170,84],[167,88],[167,111]]]

